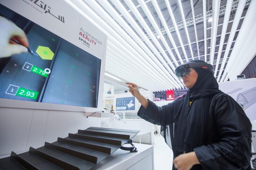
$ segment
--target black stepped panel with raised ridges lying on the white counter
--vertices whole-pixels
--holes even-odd
[[[0,159],[0,169],[84,169],[103,159],[130,141],[139,131],[90,127],[53,143]]]

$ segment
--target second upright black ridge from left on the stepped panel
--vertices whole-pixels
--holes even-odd
[[[47,161],[49,161],[49,162],[51,162],[52,164],[54,164],[54,165],[56,165],[56,166],[59,166],[59,167],[62,168],[62,169],[74,169],[74,170],[79,170],[78,167],[76,167],[76,166],[74,166],[74,165],[72,165],[72,164],[68,164],[68,163],[66,163],[66,162],[64,162],[64,161],[62,161],[62,160],[60,160],[60,159],[55,158],[55,157],[52,156],[52,155],[46,154],[46,153],[41,152],[41,151],[39,151],[39,150],[37,150],[37,149],[34,149],[34,148],[32,148],[32,147],[29,148],[29,152],[30,152],[30,153],[33,153],[33,154],[35,154],[35,155],[37,155],[37,156],[39,156],[39,157],[41,157],[41,158],[43,158],[43,159],[45,159],[45,160],[47,160]]]

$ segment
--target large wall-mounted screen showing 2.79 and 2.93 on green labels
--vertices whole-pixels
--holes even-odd
[[[23,31],[29,43],[29,52],[1,51],[0,98],[97,107],[99,58],[1,4],[0,15],[1,35]],[[19,36],[8,41],[25,44]]]

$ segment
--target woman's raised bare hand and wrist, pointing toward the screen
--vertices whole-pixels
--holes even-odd
[[[144,108],[147,108],[148,107],[148,100],[142,96],[140,94],[140,91],[139,91],[139,88],[138,88],[138,85],[134,84],[134,83],[126,83],[128,85],[128,88],[129,88],[129,92],[132,93],[132,95],[134,97],[136,97],[140,104],[144,107]]]

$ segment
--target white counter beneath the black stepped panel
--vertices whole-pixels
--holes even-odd
[[[134,144],[138,152],[118,149],[92,170],[154,170],[154,149],[152,145]],[[129,146],[129,145],[127,145]]]

